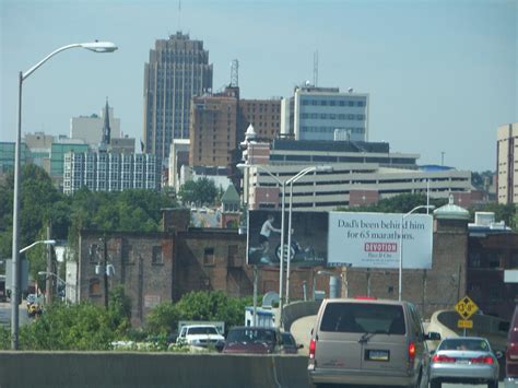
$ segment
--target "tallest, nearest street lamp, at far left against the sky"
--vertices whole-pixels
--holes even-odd
[[[14,297],[11,299],[11,348],[17,350],[17,329],[19,329],[19,306],[17,306],[17,293],[19,293],[19,236],[20,236],[20,154],[21,154],[21,138],[22,138],[22,85],[23,81],[28,78],[36,69],[44,64],[51,57],[58,52],[68,50],[70,48],[85,48],[94,52],[113,52],[117,49],[117,46],[110,42],[87,42],[67,45],[54,50],[31,69],[25,72],[19,73],[19,95],[17,95],[17,133],[16,143],[14,150],[14,193],[13,193],[13,244],[12,244],[12,267],[13,267],[13,282],[12,293]]]

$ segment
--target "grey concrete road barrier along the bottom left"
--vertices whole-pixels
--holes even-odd
[[[0,387],[308,387],[307,356],[0,352]]]

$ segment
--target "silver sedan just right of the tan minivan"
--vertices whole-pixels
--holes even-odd
[[[429,364],[431,388],[442,383],[487,384],[498,387],[498,360],[490,342],[481,337],[444,339]]]

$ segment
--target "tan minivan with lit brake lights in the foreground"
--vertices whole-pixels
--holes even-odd
[[[427,387],[428,350],[417,309],[408,302],[323,299],[311,330],[309,380]]]

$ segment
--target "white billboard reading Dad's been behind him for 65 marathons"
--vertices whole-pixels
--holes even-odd
[[[402,228],[401,228],[402,226]],[[401,230],[402,246],[401,246]],[[361,268],[432,268],[433,217],[427,214],[329,213],[328,263]],[[402,249],[402,251],[401,251]]]

